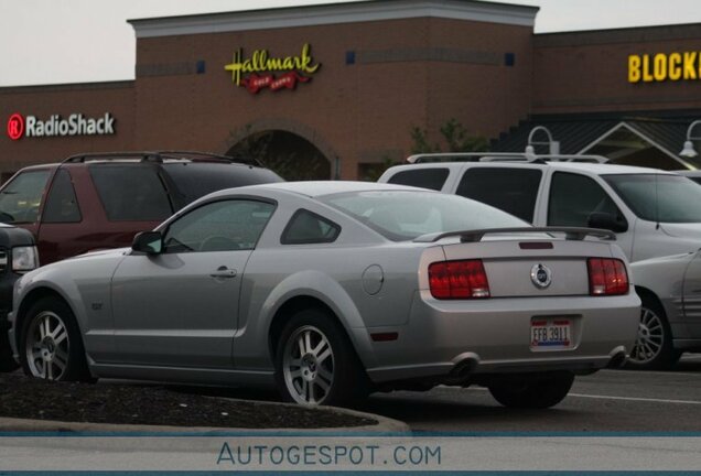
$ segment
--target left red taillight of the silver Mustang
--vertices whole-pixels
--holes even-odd
[[[435,299],[489,298],[482,260],[434,262],[429,266],[429,286]]]

